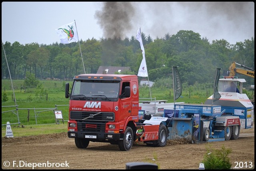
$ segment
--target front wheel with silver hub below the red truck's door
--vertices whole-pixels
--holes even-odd
[[[132,144],[133,144],[132,128],[127,126],[124,132],[124,139],[118,141],[118,147],[121,151],[129,151],[132,148]]]

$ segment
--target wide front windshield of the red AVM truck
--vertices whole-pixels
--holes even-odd
[[[114,101],[119,95],[120,81],[91,81],[91,80],[74,80],[71,98],[76,98],[77,95],[84,95],[88,100],[105,98],[107,101]],[[81,100],[81,98],[80,98]]]

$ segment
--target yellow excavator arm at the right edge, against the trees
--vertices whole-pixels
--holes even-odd
[[[240,73],[242,75],[247,75],[249,77],[254,78],[254,69],[251,69],[249,67],[246,67],[244,65],[240,65],[241,67],[245,67],[246,69],[236,68],[236,64],[240,65],[239,63],[233,62],[230,67],[228,68],[228,76],[235,76],[236,73]]]

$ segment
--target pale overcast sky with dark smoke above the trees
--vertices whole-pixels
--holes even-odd
[[[82,40],[152,39],[192,30],[231,44],[254,37],[254,2],[2,2],[2,42],[60,43],[55,29],[76,21]]]

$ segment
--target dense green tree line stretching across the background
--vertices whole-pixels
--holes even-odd
[[[233,61],[254,69],[254,37],[230,44],[224,39],[210,43],[191,30],[166,33],[154,40],[150,35],[141,35],[150,81],[172,77],[173,66],[178,66],[182,82],[188,85],[214,82],[216,68],[226,75]],[[96,73],[99,66],[130,67],[130,74],[137,75],[142,53],[136,37],[81,39],[79,43],[22,45],[6,41],[2,43],[2,79],[10,79],[4,52],[12,79],[25,79],[27,72],[40,80],[73,79],[74,75],[83,74],[84,69],[86,73]],[[252,78],[239,74],[238,77],[254,84]]]

